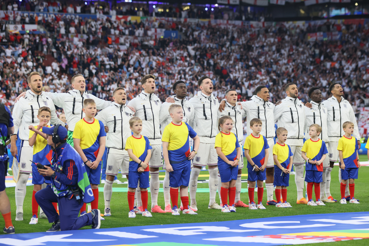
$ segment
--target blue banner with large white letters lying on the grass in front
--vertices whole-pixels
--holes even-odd
[[[231,246],[260,243],[267,246],[364,238],[369,238],[369,212],[2,235],[0,245]]]

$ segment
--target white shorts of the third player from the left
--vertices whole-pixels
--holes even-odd
[[[117,176],[120,169],[122,175],[127,175],[129,166],[130,157],[127,150],[108,148],[105,174]]]

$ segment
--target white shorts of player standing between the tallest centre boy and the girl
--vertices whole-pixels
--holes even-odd
[[[217,150],[214,143],[200,143],[197,155],[193,157],[193,164],[196,166],[214,166],[218,164]]]

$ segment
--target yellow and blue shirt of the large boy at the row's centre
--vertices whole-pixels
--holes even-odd
[[[190,162],[188,159],[191,152],[189,136],[190,138],[194,138],[197,134],[192,127],[185,122],[181,122],[179,125],[171,122],[164,128],[162,141],[169,143],[168,157],[172,166],[180,167]]]

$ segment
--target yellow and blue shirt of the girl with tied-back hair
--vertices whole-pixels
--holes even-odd
[[[233,132],[229,132],[228,134],[219,132],[217,136],[215,136],[215,148],[217,147],[222,148],[222,152],[228,160],[234,161],[237,158],[237,148],[240,146],[237,136]],[[218,164],[219,163],[224,163],[224,160],[218,156]]]

